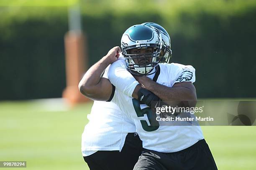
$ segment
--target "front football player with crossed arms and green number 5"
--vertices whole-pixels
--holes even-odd
[[[153,100],[195,101],[195,69],[176,63],[158,64],[161,36],[147,25],[134,25],[122,36],[121,49],[114,47],[93,65],[79,85],[80,91],[93,100],[115,102],[133,120],[143,142],[143,153],[135,170],[217,169],[200,126],[162,126],[152,117]],[[100,78],[110,65],[107,77]],[[132,79],[126,68],[142,85],[131,95],[122,90],[123,82]],[[134,82],[137,81],[134,79]],[[133,84],[133,83],[131,83]]]

